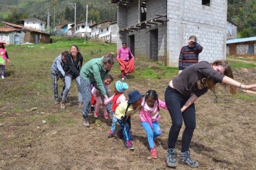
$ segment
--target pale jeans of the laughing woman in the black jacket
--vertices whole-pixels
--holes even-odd
[[[80,86],[80,76],[76,77],[75,81],[78,88],[78,102],[82,102],[82,89]],[[71,87],[71,82],[72,82],[72,75],[71,74],[65,75],[65,90],[62,96],[62,100],[64,101],[67,100],[67,95]]]

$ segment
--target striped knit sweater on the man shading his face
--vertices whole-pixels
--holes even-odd
[[[180,50],[179,70],[184,70],[186,67],[198,62],[199,53],[203,51],[203,47],[194,42],[194,47],[183,46]]]

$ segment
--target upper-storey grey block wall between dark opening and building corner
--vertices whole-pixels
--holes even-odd
[[[147,0],[147,20],[156,17],[155,14],[166,14],[166,4],[167,0]]]

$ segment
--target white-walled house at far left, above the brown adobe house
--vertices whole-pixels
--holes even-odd
[[[27,18],[20,21],[22,26],[32,28],[39,31],[44,31],[46,22],[38,20],[36,18]]]

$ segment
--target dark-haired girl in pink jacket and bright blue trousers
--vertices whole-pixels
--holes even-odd
[[[158,120],[161,118],[159,106],[167,110],[166,104],[158,99],[158,93],[155,90],[148,90],[145,100],[142,102],[139,119],[144,130],[147,132],[147,140],[152,158],[158,157],[155,139],[162,133],[158,124]]]

